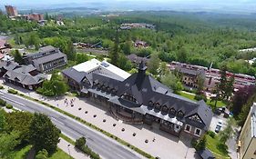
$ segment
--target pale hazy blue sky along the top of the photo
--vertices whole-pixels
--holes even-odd
[[[126,7],[126,9],[141,8],[143,10],[141,6],[144,6],[144,8],[148,7],[150,9],[187,10],[192,7],[203,11],[236,10],[239,12],[256,12],[254,10],[256,8],[256,0],[0,0],[0,8],[3,9],[5,5],[15,5],[20,10],[70,6],[97,8],[99,4],[116,9]]]

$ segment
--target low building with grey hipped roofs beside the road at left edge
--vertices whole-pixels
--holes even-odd
[[[33,65],[18,65],[15,62],[1,62],[1,75],[6,83],[36,90],[46,80],[46,75],[40,74]]]

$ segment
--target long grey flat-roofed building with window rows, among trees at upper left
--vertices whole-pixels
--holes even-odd
[[[24,55],[23,59],[26,65],[34,65],[42,73],[67,65],[67,55],[51,45],[41,47],[37,53]]]

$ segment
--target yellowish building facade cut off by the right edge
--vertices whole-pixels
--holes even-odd
[[[256,158],[256,103],[242,126],[239,136],[238,148],[241,159]]]

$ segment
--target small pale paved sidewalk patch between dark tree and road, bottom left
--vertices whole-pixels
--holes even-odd
[[[68,146],[69,145],[69,146]],[[77,150],[73,144],[68,143],[63,138],[60,138],[59,143],[57,146],[67,153],[68,155],[71,155],[74,159],[89,159],[90,157],[86,154],[83,154],[81,151]]]

